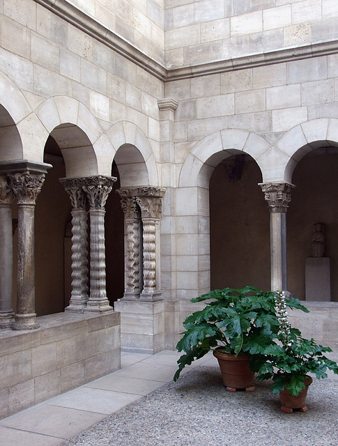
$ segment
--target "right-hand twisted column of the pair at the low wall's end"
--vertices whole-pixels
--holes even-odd
[[[91,292],[86,311],[112,312],[106,291],[105,203],[117,178],[92,176],[85,178],[83,190],[89,200],[91,222]]]

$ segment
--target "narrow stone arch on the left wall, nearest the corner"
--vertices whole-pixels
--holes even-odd
[[[107,136],[114,148],[121,187],[159,185],[153,149],[137,125],[120,121],[109,130]]]

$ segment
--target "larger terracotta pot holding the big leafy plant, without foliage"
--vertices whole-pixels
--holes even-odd
[[[220,364],[226,390],[230,392],[236,392],[237,389],[245,389],[246,392],[254,391],[254,372],[249,369],[249,355],[229,355],[222,353],[218,348],[213,351],[213,355],[217,357]]]

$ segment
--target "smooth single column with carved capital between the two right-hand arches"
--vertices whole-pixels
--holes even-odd
[[[286,210],[291,200],[290,183],[261,183],[270,210],[270,261],[272,291],[287,290]]]

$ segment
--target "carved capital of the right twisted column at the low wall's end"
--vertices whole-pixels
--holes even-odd
[[[82,189],[87,194],[91,210],[104,210],[109,193],[117,180],[113,176],[91,176],[84,178]]]

